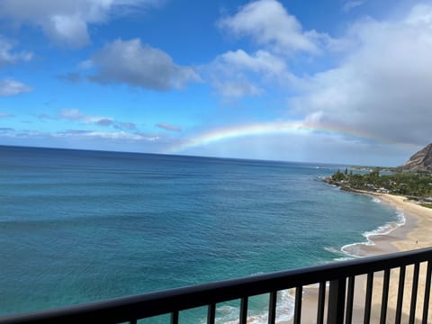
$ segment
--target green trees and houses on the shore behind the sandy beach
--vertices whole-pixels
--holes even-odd
[[[380,175],[375,169],[368,174],[348,173],[338,170],[331,176],[333,183],[346,188],[388,192],[410,197],[429,198],[432,197],[432,175],[424,173],[395,172],[388,175]]]

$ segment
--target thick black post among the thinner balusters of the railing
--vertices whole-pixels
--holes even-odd
[[[344,322],[346,285],[346,278],[330,281],[329,313],[327,316],[328,324],[339,324]]]

